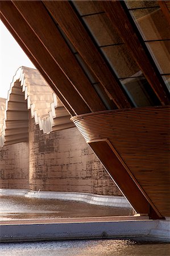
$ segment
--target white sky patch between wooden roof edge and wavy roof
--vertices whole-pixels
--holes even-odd
[[[21,66],[35,68],[0,20],[0,97],[7,98],[13,76]]]

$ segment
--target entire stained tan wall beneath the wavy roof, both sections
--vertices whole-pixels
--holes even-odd
[[[0,156],[0,188],[122,195],[76,127],[43,134],[31,118],[29,143]]]

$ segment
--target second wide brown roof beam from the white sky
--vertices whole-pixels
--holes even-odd
[[[59,64],[65,76],[73,82],[74,88],[80,92],[89,109],[92,112],[105,110],[105,106],[77,63],[55,23],[48,15],[43,3],[41,1],[13,1],[13,3],[53,59]]]

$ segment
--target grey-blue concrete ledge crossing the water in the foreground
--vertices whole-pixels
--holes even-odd
[[[54,224],[13,224],[1,225],[1,242],[7,241],[40,241],[40,240],[65,240],[80,238],[119,238],[154,236],[169,240],[169,226],[164,233],[154,233],[159,225],[159,220],[134,220],[134,221],[89,221],[74,223]],[[168,221],[165,225],[169,223]]]

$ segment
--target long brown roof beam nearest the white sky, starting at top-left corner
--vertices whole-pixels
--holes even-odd
[[[88,106],[74,89],[71,81],[64,75],[47,49],[43,46],[31,28],[20,15],[19,11],[10,1],[1,1],[1,14],[7,20],[15,33],[22,40],[28,51],[34,55],[36,61],[43,71],[55,85],[55,88],[62,92],[62,96],[69,105],[72,106],[74,113],[90,112]],[[42,74],[43,75],[43,74]]]

